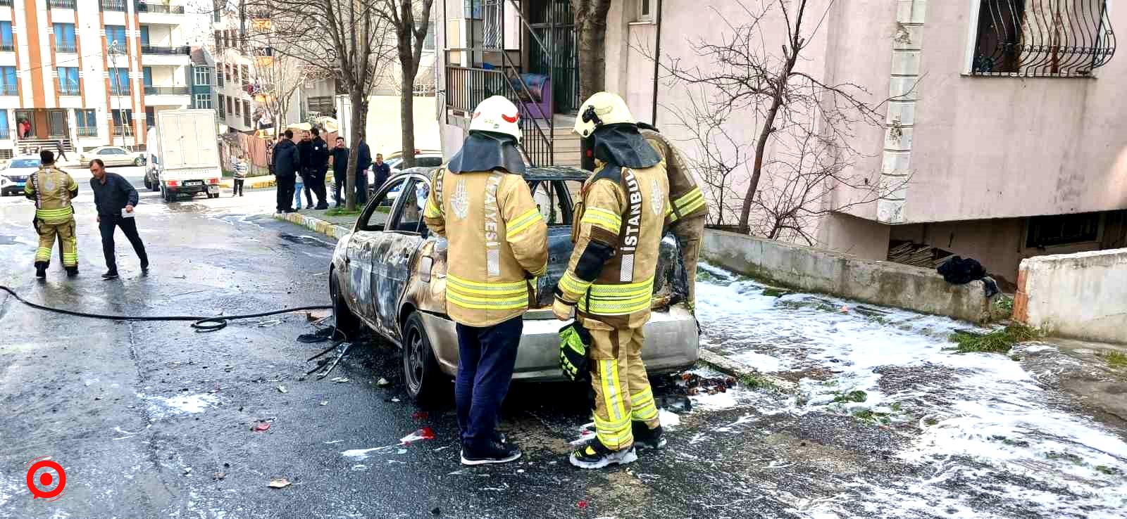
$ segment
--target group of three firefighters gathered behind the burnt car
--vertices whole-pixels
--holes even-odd
[[[548,229],[522,178],[520,116],[500,96],[478,105],[462,149],[435,172],[424,209],[427,226],[447,239],[447,257],[458,258],[446,266],[446,312],[458,323],[454,393],[465,465],[521,457],[496,426],[523,314],[547,270]],[[569,460],[601,468],[636,460],[636,446],[665,445],[641,360],[644,328],[663,233],[677,235],[685,269],[694,272],[708,208],[681,154],[638,123],[621,97],[592,96],[574,131],[583,167],[594,175],[578,195],[575,249],[554,287],[552,313],[561,321],[575,316],[560,332],[560,367],[588,376],[595,395],[595,435]]]

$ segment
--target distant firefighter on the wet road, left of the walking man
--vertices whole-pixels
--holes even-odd
[[[55,236],[62,251],[68,276],[78,275],[78,238],[74,235],[74,208],[71,200],[78,196],[78,182],[65,171],[55,168],[55,154],[39,152],[39,170],[32,173],[24,187],[24,196],[35,200],[35,231],[39,233],[39,248],[35,250],[35,276],[44,278],[51,266],[51,249]]]

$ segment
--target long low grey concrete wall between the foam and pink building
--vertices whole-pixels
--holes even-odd
[[[709,230],[701,256],[769,283],[974,322],[990,319],[983,284],[951,285],[934,270]]]

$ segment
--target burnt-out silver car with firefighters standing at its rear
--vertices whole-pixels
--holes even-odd
[[[403,348],[408,394],[417,401],[449,391],[458,368],[458,334],[446,315],[446,240],[423,221],[434,168],[410,168],[392,177],[364,207],[353,232],[337,242],[329,266],[329,296],[338,328],[348,337],[362,326]],[[514,378],[562,379],[562,323],[551,312],[552,288],[567,268],[571,243],[571,193],[587,178],[578,168],[531,168],[524,178],[548,222],[549,265],[536,287],[536,305],[524,316]],[[655,308],[646,324],[642,358],[651,372],[693,365],[696,320],[684,306],[685,272],[676,240],[662,241],[654,284]]]

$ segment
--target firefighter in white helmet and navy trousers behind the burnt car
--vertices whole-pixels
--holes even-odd
[[[522,176],[518,120],[508,99],[481,101],[461,151],[435,173],[423,215],[450,242],[446,313],[458,323],[454,394],[465,465],[521,457],[495,428],[522,317],[548,266],[548,225]]]

